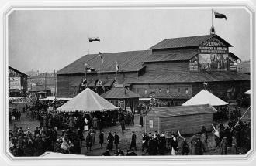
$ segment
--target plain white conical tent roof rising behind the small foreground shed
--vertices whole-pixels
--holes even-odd
[[[199,104],[210,104],[212,106],[222,106],[222,105],[227,105],[228,103],[214,96],[213,93],[210,93],[208,90],[201,90],[194,97],[192,97],[191,99],[183,103],[182,106],[192,106],[192,105],[199,105]]]

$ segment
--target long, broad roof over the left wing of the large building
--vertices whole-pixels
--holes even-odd
[[[150,55],[151,50],[102,53],[103,64],[101,65],[101,60],[98,54],[89,54],[82,56],[80,59],[74,61],[74,63],[65,66],[58,71],[57,74],[84,73],[85,63],[98,71],[101,67],[101,73],[116,72],[116,61],[119,65],[119,69],[123,72],[139,71],[144,67],[144,60]]]

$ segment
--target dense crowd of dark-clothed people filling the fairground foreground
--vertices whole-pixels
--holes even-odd
[[[124,132],[126,125],[134,125],[133,113],[64,113],[50,107],[54,106],[36,101],[22,109],[29,120],[39,120],[40,126],[31,131],[29,128],[22,129],[14,124],[13,129],[9,130],[9,151],[14,156],[39,156],[46,151],[81,154],[83,146],[86,147],[86,153],[89,153],[93,151],[93,144],[99,144],[99,148],[106,144],[106,151],[102,155],[108,156],[112,152],[114,155],[125,155],[119,146],[122,138],[117,132],[112,134],[110,131],[107,137],[104,137],[103,128],[119,123]],[[19,113],[20,110],[12,110],[12,116],[15,116],[16,120],[20,120]],[[240,108],[233,109],[230,111],[228,124],[220,124],[216,129],[213,126],[215,145],[216,148],[220,148],[220,154],[244,154],[250,150],[250,123],[244,123],[240,117]],[[140,126],[143,127],[143,124],[141,114]],[[193,134],[192,137],[182,137],[179,133],[171,133],[171,136],[168,136],[157,131],[154,134],[144,133],[139,149],[141,148],[143,155],[202,155],[209,150],[208,134],[206,127],[202,127],[201,132]],[[99,142],[96,142],[96,137],[99,137]],[[137,135],[133,131],[126,155],[137,155],[137,143]]]

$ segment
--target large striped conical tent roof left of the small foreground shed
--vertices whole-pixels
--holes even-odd
[[[100,97],[98,93],[93,92],[89,88],[86,88],[63,106],[57,108],[57,110],[66,112],[76,110],[81,112],[94,112],[117,109],[118,107],[114,106],[103,97]]]

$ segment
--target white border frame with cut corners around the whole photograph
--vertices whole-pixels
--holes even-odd
[[[250,59],[251,59],[251,92],[255,92],[254,83],[255,83],[255,2],[251,1],[158,1],[158,2],[148,2],[148,1],[138,1],[138,2],[123,2],[123,1],[86,1],[86,2],[8,2],[1,9],[2,22],[3,26],[2,30],[2,39],[1,42],[2,50],[3,50],[3,59],[1,59],[1,64],[3,68],[1,69],[2,74],[2,82],[1,82],[1,105],[3,109],[2,113],[2,122],[0,134],[1,137],[1,159],[4,159],[9,164],[85,164],[90,161],[90,164],[114,164],[111,161],[129,161],[130,164],[249,164],[251,161],[255,161],[255,115],[254,113],[254,93],[251,93],[251,151],[249,151],[246,155],[207,155],[207,156],[140,156],[140,157],[101,157],[101,156],[88,156],[86,158],[40,158],[40,157],[12,157],[12,155],[8,151],[8,118],[5,116],[8,113],[8,101],[6,100],[6,96],[8,95],[8,86],[7,85],[7,77],[8,76],[8,15],[13,10],[83,10],[83,9],[143,9],[143,8],[244,8],[250,14],[250,31],[251,31],[251,50],[250,50]],[[254,139],[253,139],[254,138]],[[3,151],[2,151],[3,150]],[[138,161],[140,160],[140,161]],[[1,161],[1,160],[0,160]],[[20,162],[22,161],[22,162]],[[38,162],[40,161],[40,162]],[[92,163],[92,161],[97,161],[97,163]],[[143,163],[141,163],[141,161]],[[209,161],[212,161],[209,163]],[[157,162],[157,163],[156,163]]]

